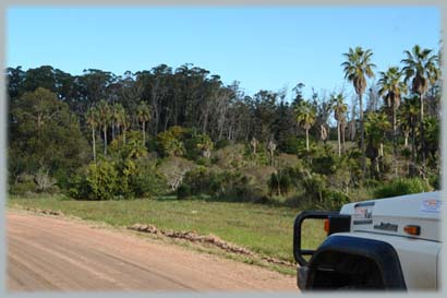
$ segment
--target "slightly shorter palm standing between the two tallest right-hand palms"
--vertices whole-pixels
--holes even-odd
[[[400,99],[402,95],[407,93],[407,86],[401,81],[402,73],[399,68],[392,67],[387,72],[380,72],[380,79],[378,80],[379,91],[378,95],[383,96],[387,107],[391,110],[392,117],[392,155],[395,164],[395,175],[398,174],[397,165],[397,140],[396,140],[396,114],[400,106]]]

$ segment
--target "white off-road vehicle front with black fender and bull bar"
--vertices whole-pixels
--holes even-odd
[[[293,233],[299,288],[439,289],[440,194],[351,203],[339,213],[302,212]],[[325,219],[328,237],[316,250],[301,248],[302,224],[309,218]]]

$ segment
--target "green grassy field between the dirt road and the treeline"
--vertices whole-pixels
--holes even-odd
[[[10,196],[8,206],[59,210],[65,215],[126,227],[153,224],[161,229],[213,234],[263,255],[292,261],[293,220],[298,210],[251,203],[198,200],[74,201],[61,196]],[[324,239],[322,223],[310,223],[305,248]]]

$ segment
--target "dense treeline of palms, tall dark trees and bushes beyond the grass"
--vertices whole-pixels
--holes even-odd
[[[340,62],[351,105],[345,91],[304,98],[303,83],[246,95],[192,64],[122,76],[8,68],[10,191],[335,207],[401,177],[438,188],[440,56],[415,46],[376,72],[373,52],[357,47]]]

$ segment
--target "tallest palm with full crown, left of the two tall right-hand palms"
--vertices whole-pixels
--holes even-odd
[[[362,96],[366,90],[366,78],[374,76],[373,68],[375,68],[375,64],[371,63],[371,57],[373,56],[371,49],[363,50],[361,47],[355,47],[355,49],[349,48],[349,52],[343,53],[343,56],[347,58],[347,61],[341,63],[345,71],[345,79],[352,82],[355,93],[359,96],[360,146],[362,150],[362,169],[364,175],[366,171],[366,160]]]

